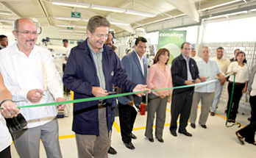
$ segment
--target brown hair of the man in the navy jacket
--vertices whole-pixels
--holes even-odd
[[[95,29],[100,26],[110,28],[110,22],[107,21],[107,18],[96,15],[90,18],[90,20],[88,21],[87,30],[89,30],[89,32],[93,34],[95,32]]]

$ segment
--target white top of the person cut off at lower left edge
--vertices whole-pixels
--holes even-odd
[[[5,148],[10,146],[13,142],[12,137],[7,129],[6,122],[4,117],[1,116],[0,113],[0,152],[3,151]]]

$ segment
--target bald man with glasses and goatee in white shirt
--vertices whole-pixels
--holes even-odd
[[[65,101],[63,87],[51,53],[35,46],[37,26],[28,18],[17,19],[13,35],[17,42],[0,51],[0,71],[4,83],[19,107]],[[60,105],[58,109],[64,109]],[[47,157],[62,157],[57,124],[57,107],[33,107],[21,109],[27,129],[13,134],[13,143],[21,158],[38,158],[40,139]]]

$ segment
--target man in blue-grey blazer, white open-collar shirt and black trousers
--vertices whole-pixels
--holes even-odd
[[[132,82],[136,84],[146,85],[146,53],[147,41],[144,37],[138,37],[135,40],[135,49],[125,55],[121,60],[127,75]],[[135,134],[132,134],[133,125],[137,111],[135,106],[140,106],[142,101],[138,96],[118,97],[118,110],[121,127],[121,137],[124,145],[127,148],[135,149],[132,144],[132,139],[136,139]],[[134,106],[135,104],[135,106]]]

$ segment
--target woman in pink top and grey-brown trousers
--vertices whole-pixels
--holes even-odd
[[[154,64],[149,69],[147,85],[152,90],[172,87],[171,69],[167,63],[169,60],[168,49],[159,49],[154,57]],[[158,90],[149,94],[149,106],[146,120],[145,136],[150,142],[154,142],[153,123],[154,114],[157,113],[155,136],[163,143],[163,127],[166,121],[166,105],[171,101],[171,90]]]

